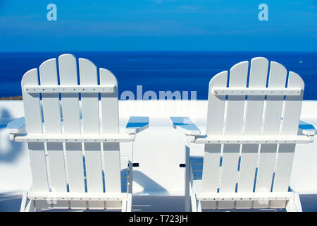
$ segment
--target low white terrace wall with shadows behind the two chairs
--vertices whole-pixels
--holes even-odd
[[[206,100],[119,101],[120,132],[130,116],[149,116],[149,129],[135,141],[135,195],[183,195],[184,136],[172,128],[170,116],[190,117],[202,133],[205,130]],[[301,119],[317,126],[317,101],[304,101]],[[31,185],[25,144],[8,140],[6,124],[23,116],[22,101],[0,101],[0,193],[26,191]],[[128,150],[121,144],[121,152]],[[203,145],[193,145],[192,155],[202,155]],[[292,189],[317,194],[317,142],[297,145],[292,171]]]

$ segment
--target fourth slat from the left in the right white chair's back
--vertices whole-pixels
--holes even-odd
[[[285,88],[287,71],[282,64],[271,61],[269,88]],[[263,135],[280,135],[280,121],[282,117],[284,96],[268,96],[263,124]],[[277,145],[262,144],[259,153],[259,168],[256,177],[256,192],[271,191],[273,171],[275,165]],[[268,203],[254,201],[254,208],[268,208]]]

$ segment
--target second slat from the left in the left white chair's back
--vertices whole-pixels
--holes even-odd
[[[58,85],[56,59],[49,59],[39,66],[41,85]],[[44,133],[61,133],[61,109],[58,94],[43,93],[42,107],[44,117]],[[64,165],[63,143],[46,143],[49,157],[51,191],[67,190]],[[55,203],[54,203],[55,205]],[[60,208],[68,208],[67,201],[57,201]]]

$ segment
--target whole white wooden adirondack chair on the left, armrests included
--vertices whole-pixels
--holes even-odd
[[[148,117],[130,117],[119,133],[118,83],[106,69],[71,54],[49,59],[22,79],[25,117],[7,126],[27,142],[32,187],[21,211],[121,209],[131,211],[132,148]],[[39,78],[38,78],[39,76]],[[59,81],[59,82],[58,82]],[[78,85],[80,84],[80,85]],[[99,100],[100,97],[100,100]],[[130,142],[128,156],[120,142]]]

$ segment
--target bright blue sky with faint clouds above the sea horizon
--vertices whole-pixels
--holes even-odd
[[[0,52],[96,50],[317,52],[317,1],[0,0]]]

